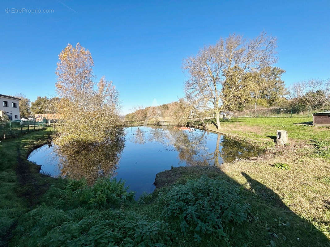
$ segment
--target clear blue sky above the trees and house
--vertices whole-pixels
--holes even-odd
[[[10,13],[6,13],[6,9]],[[12,13],[13,9],[53,13]],[[286,85],[330,77],[330,1],[2,1],[0,94],[55,94],[58,54],[80,42],[122,113],[183,96],[182,60],[230,33],[278,39]]]

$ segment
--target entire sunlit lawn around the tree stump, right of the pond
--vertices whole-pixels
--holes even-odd
[[[253,191],[253,187],[243,173],[271,189],[285,206],[330,238],[330,128],[295,125],[306,122],[312,122],[312,118],[221,121],[219,132],[252,143],[266,152],[256,159],[223,164],[220,169],[248,190]],[[209,129],[217,131],[215,119],[209,123]],[[277,130],[288,132],[288,145],[275,146]]]

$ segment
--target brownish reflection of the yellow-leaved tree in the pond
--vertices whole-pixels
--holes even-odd
[[[88,184],[93,184],[99,177],[114,176],[124,146],[123,129],[118,129],[102,143],[74,142],[55,146],[61,177],[85,178]]]

